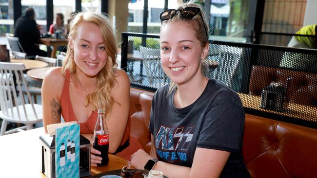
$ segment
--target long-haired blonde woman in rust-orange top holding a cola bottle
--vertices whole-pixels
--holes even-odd
[[[93,134],[97,109],[106,110],[109,153],[130,160],[142,148],[130,137],[130,81],[117,69],[117,44],[111,20],[79,13],[72,21],[62,67],[47,71],[42,84],[43,125],[79,121],[81,134]],[[102,160],[91,147],[91,165]]]

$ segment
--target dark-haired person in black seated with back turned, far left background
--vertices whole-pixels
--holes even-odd
[[[33,8],[27,8],[25,15],[18,18],[15,24],[14,36],[19,37],[20,44],[27,55],[46,56],[45,51],[40,50],[40,30],[35,21]]]

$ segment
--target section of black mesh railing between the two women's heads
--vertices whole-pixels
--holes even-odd
[[[131,84],[151,90],[169,84],[170,80],[161,68],[159,37],[127,36],[127,41],[126,71]]]

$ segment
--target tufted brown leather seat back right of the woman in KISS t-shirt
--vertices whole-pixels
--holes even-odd
[[[316,178],[317,130],[246,114],[244,162],[253,178]]]

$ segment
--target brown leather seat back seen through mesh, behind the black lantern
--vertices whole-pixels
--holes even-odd
[[[317,107],[317,74],[314,73],[253,66],[249,94],[261,95],[262,89],[273,81],[285,85],[287,78],[292,80],[288,83],[286,101]]]

